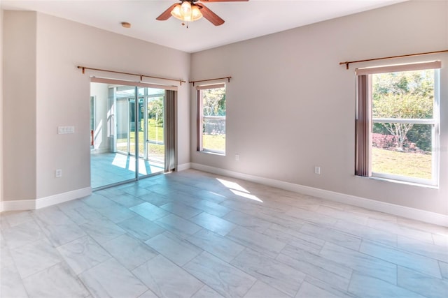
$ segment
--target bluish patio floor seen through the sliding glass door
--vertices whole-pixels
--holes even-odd
[[[139,159],[139,175],[145,176],[163,172],[161,163]],[[116,184],[135,178],[135,157],[120,153],[90,155],[92,188]]]

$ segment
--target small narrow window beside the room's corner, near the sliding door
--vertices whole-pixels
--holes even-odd
[[[225,154],[225,84],[197,87],[197,150]]]

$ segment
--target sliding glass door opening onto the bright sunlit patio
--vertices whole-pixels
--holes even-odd
[[[144,84],[91,82],[92,188],[166,171],[166,94]]]

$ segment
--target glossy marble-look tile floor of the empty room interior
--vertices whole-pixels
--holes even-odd
[[[195,170],[3,212],[0,297],[448,297],[448,228]]]

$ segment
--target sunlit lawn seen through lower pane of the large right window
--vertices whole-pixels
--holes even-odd
[[[372,151],[372,171],[431,179],[431,155],[379,148]]]

